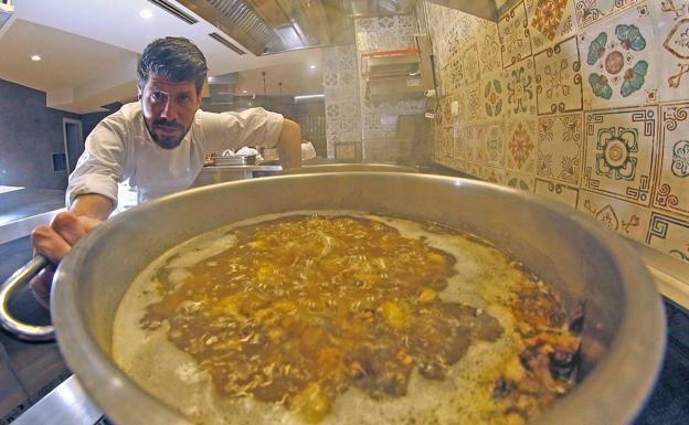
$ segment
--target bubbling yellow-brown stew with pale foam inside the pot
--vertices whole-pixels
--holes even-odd
[[[522,424],[572,387],[579,348],[548,287],[488,243],[354,212],[173,248],[113,339],[141,386],[204,424]]]

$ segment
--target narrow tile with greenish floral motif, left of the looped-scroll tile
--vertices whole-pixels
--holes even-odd
[[[508,116],[536,115],[536,77],[533,60],[529,57],[507,70]]]

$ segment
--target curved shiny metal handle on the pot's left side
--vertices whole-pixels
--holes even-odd
[[[50,341],[55,339],[53,326],[34,326],[21,322],[13,318],[8,309],[12,293],[21,285],[28,284],[33,276],[49,264],[50,262],[44,256],[36,255],[25,266],[14,272],[0,287],[0,325],[14,333],[19,339],[26,341]]]

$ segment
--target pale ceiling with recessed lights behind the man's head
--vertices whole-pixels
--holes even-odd
[[[14,0],[13,4],[13,17],[0,29],[0,78],[46,92],[49,107],[84,114],[132,98],[138,53],[166,35],[192,40],[205,54],[211,76],[241,72],[236,94],[244,89],[263,94],[261,71],[266,71],[268,95],[271,84],[277,94],[280,81],[283,94],[322,91],[318,49],[239,55],[209,36],[218,32],[210,23],[199,19],[188,24],[147,0]],[[152,12],[150,19],[139,15],[145,9]],[[42,60],[31,61],[34,54]]]

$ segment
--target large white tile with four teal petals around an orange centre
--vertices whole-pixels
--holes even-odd
[[[654,20],[647,4],[587,29],[579,38],[583,56],[584,108],[658,102]]]

